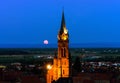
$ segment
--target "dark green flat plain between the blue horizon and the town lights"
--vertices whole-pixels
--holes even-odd
[[[120,48],[70,48],[72,60],[79,56],[82,61],[120,61]],[[21,62],[38,64],[52,60],[57,48],[6,48],[0,49],[0,63]]]

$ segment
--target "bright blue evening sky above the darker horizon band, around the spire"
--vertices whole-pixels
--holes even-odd
[[[120,0],[0,0],[0,44],[56,44],[63,7],[70,43],[120,42]]]

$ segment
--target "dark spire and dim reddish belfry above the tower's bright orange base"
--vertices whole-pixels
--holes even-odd
[[[68,35],[68,30],[66,29],[65,26],[65,17],[63,11],[61,27],[58,33],[58,58],[69,57],[68,44],[69,44],[69,35]]]

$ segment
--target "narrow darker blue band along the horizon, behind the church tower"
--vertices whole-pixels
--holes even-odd
[[[102,42],[102,43],[70,43],[71,48],[120,48],[120,43]],[[55,44],[0,44],[0,48],[57,48]]]

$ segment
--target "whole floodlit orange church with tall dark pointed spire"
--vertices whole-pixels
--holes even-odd
[[[62,12],[61,27],[57,35],[58,53],[54,56],[53,65],[47,71],[47,83],[71,83],[71,57],[69,52],[69,34],[65,25],[64,12]],[[66,81],[65,81],[66,80]],[[60,82],[58,82],[60,81]]]

